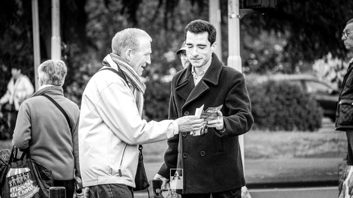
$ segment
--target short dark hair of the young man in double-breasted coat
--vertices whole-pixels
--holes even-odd
[[[185,27],[185,40],[187,31],[194,34],[201,34],[207,32],[207,39],[211,43],[211,45],[216,41],[216,28],[208,21],[198,19],[191,21],[189,24],[187,24],[187,26]]]

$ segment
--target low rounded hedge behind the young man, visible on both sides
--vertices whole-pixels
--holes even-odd
[[[323,110],[310,94],[286,81],[258,81],[258,78],[246,76],[254,117],[253,129],[315,131],[321,127]],[[170,82],[150,80],[146,87],[144,118],[167,119]]]

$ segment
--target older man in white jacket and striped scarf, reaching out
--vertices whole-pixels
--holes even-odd
[[[95,197],[133,197],[138,144],[166,140],[184,131],[200,130],[203,119],[146,122],[141,118],[144,83],[139,76],[151,63],[151,37],[125,29],[112,40],[113,53],[103,70],[92,76],[82,96],[79,159],[83,186]],[[122,72],[125,79],[105,68]],[[105,69],[105,70],[104,70]]]

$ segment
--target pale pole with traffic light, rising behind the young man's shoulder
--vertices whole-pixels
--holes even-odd
[[[241,72],[239,0],[228,0],[228,60],[229,67]],[[244,135],[239,136],[244,166]]]

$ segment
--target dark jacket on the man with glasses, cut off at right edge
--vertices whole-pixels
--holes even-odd
[[[343,78],[336,111],[336,130],[353,129],[353,63],[349,64]]]

